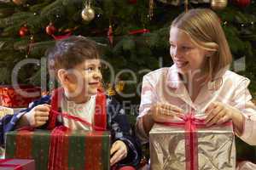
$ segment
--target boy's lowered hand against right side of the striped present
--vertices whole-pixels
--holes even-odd
[[[113,166],[116,162],[124,159],[127,156],[127,147],[126,144],[121,141],[117,140],[112,144],[111,150],[110,150],[110,166]],[[113,155],[113,156],[112,156]]]

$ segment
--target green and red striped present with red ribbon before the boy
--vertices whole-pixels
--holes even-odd
[[[110,168],[108,131],[13,131],[6,134],[5,148],[6,158],[34,159],[37,170]]]

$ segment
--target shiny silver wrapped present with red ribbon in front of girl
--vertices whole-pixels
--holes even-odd
[[[149,132],[151,169],[235,170],[236,147],[231,122],[206,127],[185,116],[182,121],[155,123]]]

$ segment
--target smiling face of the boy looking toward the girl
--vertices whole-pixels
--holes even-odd
[[[83,63],[68,70],[66,78],[62,76],[62,79],[65,79],[65,81],[61,80],[61,84],[67,89],[66,93],[73,98],[81,99],[95,95],[102,80],[101,61],[85,59]]]

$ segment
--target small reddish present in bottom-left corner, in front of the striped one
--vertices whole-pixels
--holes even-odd
[[[0,159],[1,170],[35,170],[35,161],[29,159]]]

